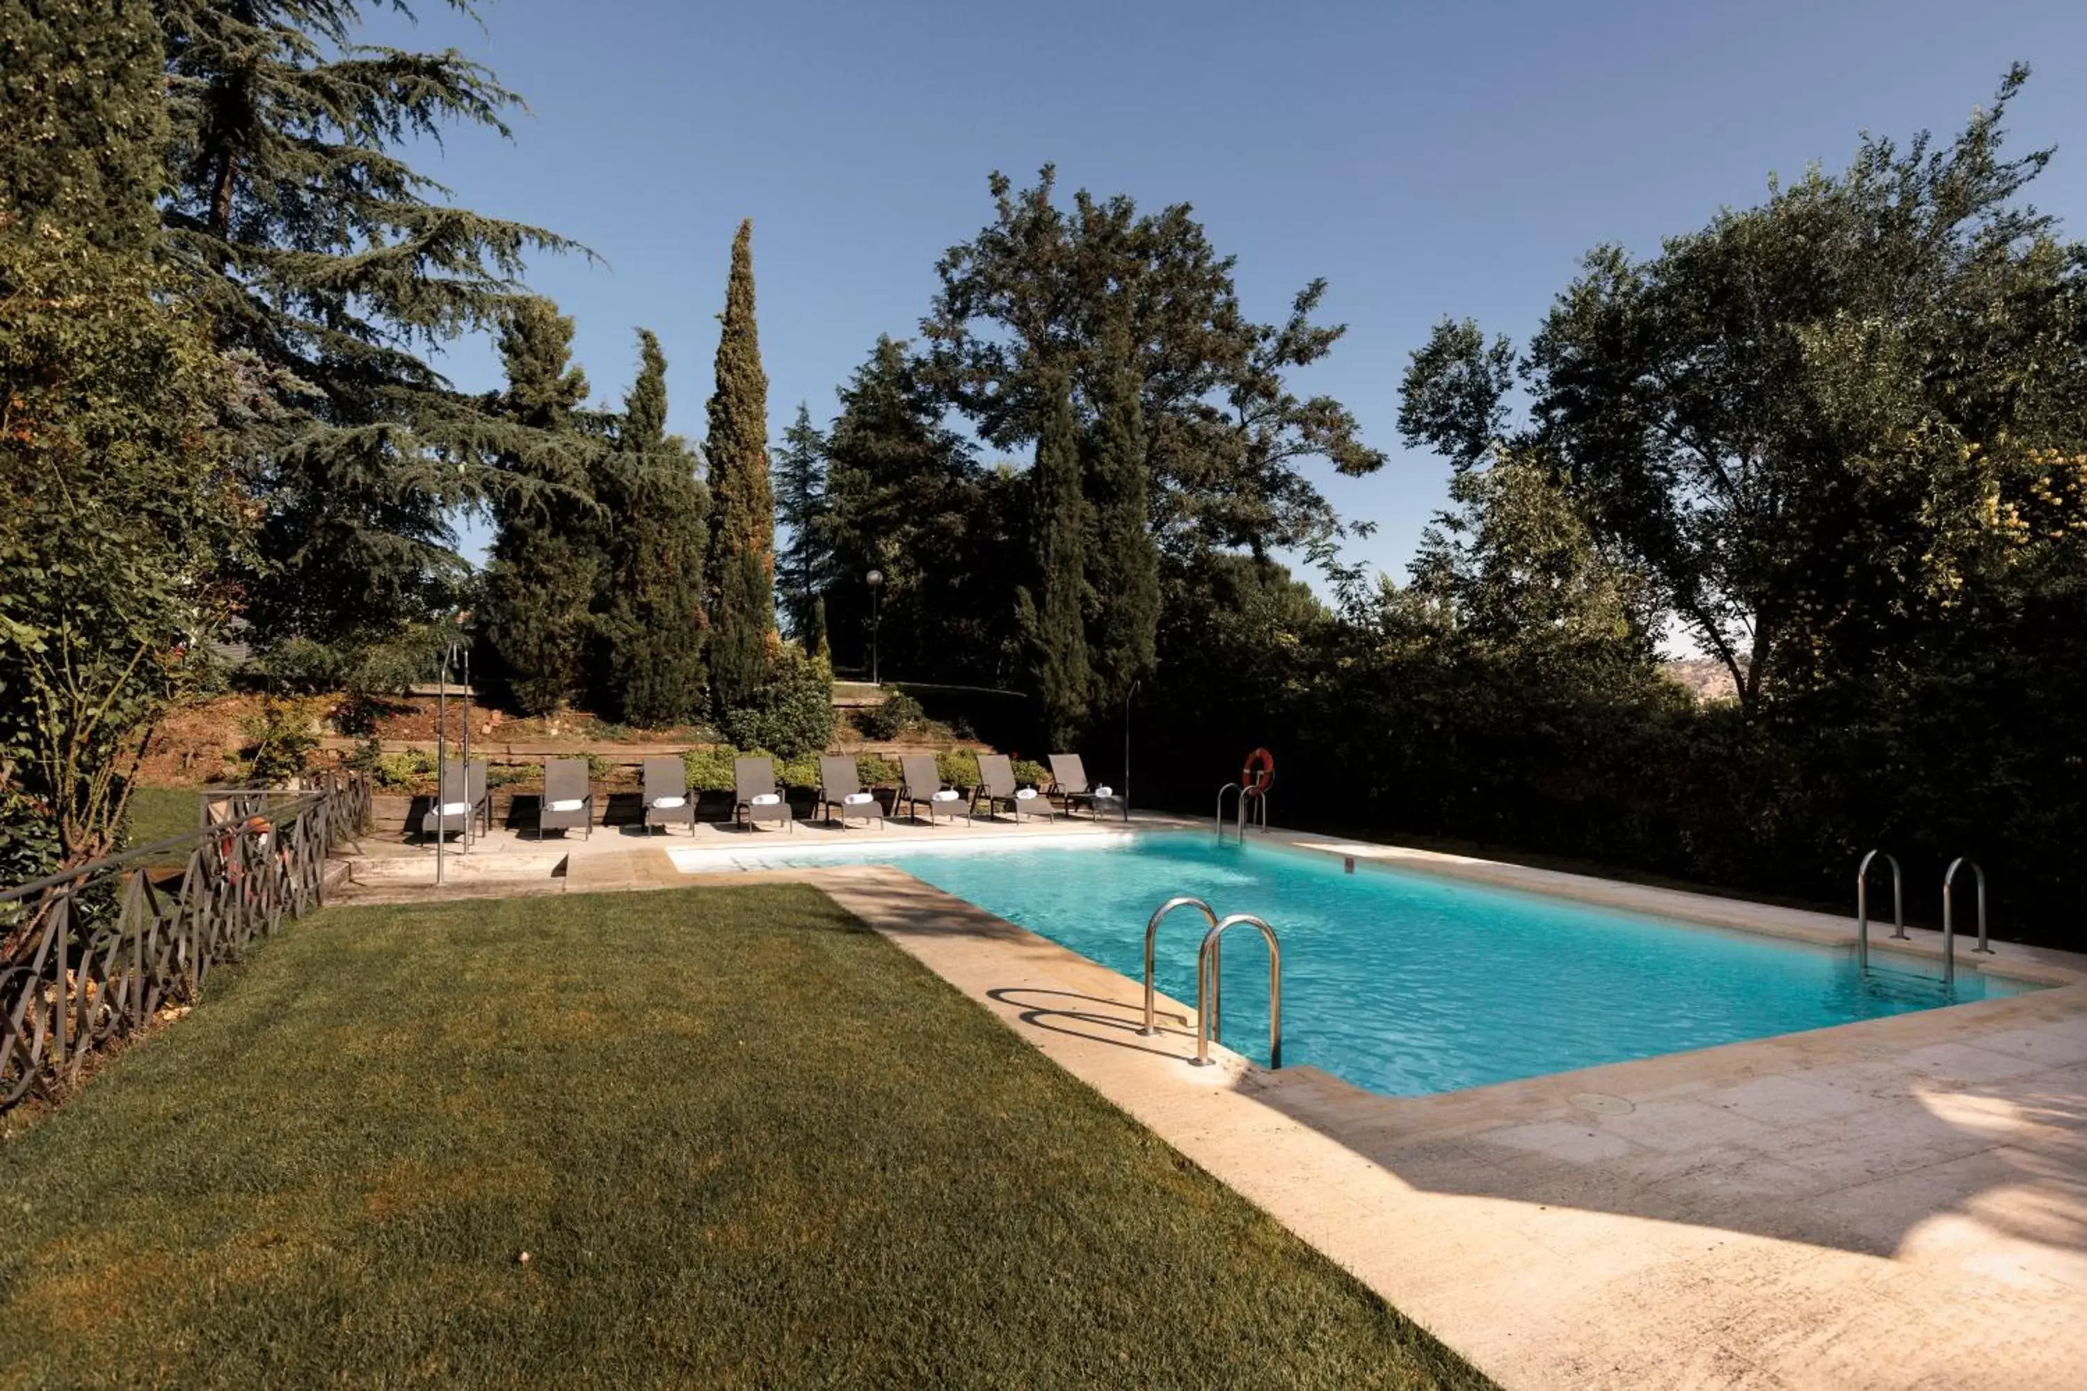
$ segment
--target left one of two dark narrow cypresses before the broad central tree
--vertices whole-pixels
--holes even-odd
[[[1018,596],[1033,653],[1033,684],[1041,734],[1069,749],[1087,719],[1094,674],[1087,665],[1087,582],[1083,553],[1087,503],[1079,488],[1079,419],[1062,373],[1046,377],[1050,411],[1037,436],[1035,592]]]

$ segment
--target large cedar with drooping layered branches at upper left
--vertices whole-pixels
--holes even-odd
[[[382,4],[403,10],[405,0]],[[163,242],[248,380],[238,444],[263,509],[246,617],[263,649],[351,659],[453,605],[449,517],[513,486],[482,405],[426,350],[499,330],[528,250],[572,242],[480,217],[399,148],[507,136],[520,98],[457,52],[357,46],[361,0],[157,0]],[[503,432],[511,440],[511,430]]]

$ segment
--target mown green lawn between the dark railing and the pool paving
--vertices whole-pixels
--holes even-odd
[[[1484,1385],[799,886],[292,924],[0,1212],[13,1387]]]

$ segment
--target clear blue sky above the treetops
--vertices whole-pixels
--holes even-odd
[[[1843,165],[1862,129],[1951,133],[2018,58],[2016,146],[2060,146],[2035,200],[2087,236],[2081,0],[495,0],[482,29],[415,2],[417,27],[369,38],[457,46],[532,108],[513,144],[457,136],[422,167],[607,263],[532,273],[578,319],[597,398],[622,396],[647,325],[674,430],[703,434],[751,217],[770,423],[806,400],[824,425],[877,334],[916,332],[935,259],[989,219],[987,173],[1054,161],[1066,194],[1192,202],[1261,319],[1332,282],[1348,338],[1304,386],[1392,461],[1323,486],[1380,523],[1354,555],[1400,578],[1446,471],[1398,448],[1396,388],[1442,315],[1519,342],[1588,246],[1653,250],[1759,200],[1770,171]],[[495,382],[482,344],[447,369]]]

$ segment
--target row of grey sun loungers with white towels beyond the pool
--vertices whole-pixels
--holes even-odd
[[[1087,784],[1087,770],[1077,753],[1054,753],[1050,792],[1064,803],[1064,813],[1085,805],[1092,813],[1098,801],[1110,797],[1106,786]],[[904,755],[899,759],[899,786],[891,799],[891,809],[929,826],[941,820],[954,822],[960,813],[966,822],[977,822],[983,809],[987,817],[998,817],[1002,809],[1014,817],[1050,820],[1056,811],[1050,795],[1037,788],[1023,788],[1014,782],[1014,761],[1004,753],[979,755],[979,786],[966,799],[958,788],[945,786],[933,755]],[[862,776],[854,755],[826,755],[818,761],[818,799],[812,803],[814,820],[839,826],[862,822],[885,824],[883,803],[862,786]],[[733,824],[753,830],[776,824],[795,828],[789,797],[776,780],[774,759],[745,757],[733,761]],[[645,826],[687,826],[695,832],[695,797],[689,792],[689,770],[676,757],[645,759]],[[824,815],[820,815],[824,813]],[[545,830],[584,830],[595,834],[595,788],[589,778],[586,759],[549,759],[543,767],[543,809],[538,813],[538,834]],[[438,780],[434,805],[422,817],[424,836],[465,830],[484,822],[493,830],[493,799],[486,786],[486,763],[474,759],[445,763]]]

